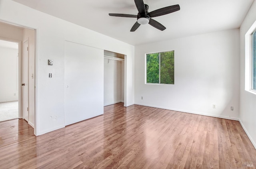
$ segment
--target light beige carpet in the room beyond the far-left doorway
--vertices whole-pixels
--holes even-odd
[[[19,118],[18,101],[0,103],[0,122]]]

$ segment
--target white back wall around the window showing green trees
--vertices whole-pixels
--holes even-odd
[[[175,84],[145,84],[145,53],[172,50]],[[238,120],[239,29],[136,46],[135,73],[135,104]]]

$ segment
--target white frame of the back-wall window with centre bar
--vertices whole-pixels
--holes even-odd
[[[160,53],[171,52],[171,51],[174,52],[174,50],[170,50],[170,51],[162,51],[162,52],[145,53],[145,84],[146,85],[174,85],[175,84],[175,81],[173,84],[161,83],[161,59],[160,59],[161,54]],[[158,59],[158,61],[159,61],[159,83],[147,83],[147,77],[148,77],[148,75],[147,75],[147,73],[148,73],[148,71],[147,71],[147,54],[152,54],[152,53],[159,54],[159,59]],[[175,65],[175,55],[174,55],[174,65]],[[174,66],[174,77],[175,77],[175,66]]]

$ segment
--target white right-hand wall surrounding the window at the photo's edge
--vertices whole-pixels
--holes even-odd
[[[240,122],[246,134],[256,148],[256,95],[245,90],[245,69],[249,67],[245,59],[250,58],[250,52],[245,49],[245,34],[256,21],[256,1],[253,2],[244,22],[240,27]],[[247,55],[245,55],[247,53]],[[245,66],[246,65],[246,66]],[[247,80],[247,79],[246,79]]]

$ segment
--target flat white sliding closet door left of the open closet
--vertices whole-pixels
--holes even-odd
[[[65,126],[103,114],[104,51],[65,41]]]

